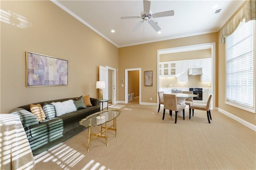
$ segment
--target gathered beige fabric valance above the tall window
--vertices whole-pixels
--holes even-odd
[[[238,27],[240,22],[245,19],[245,22],[250,20],[256,20],[256,1],[249,0],[244,7],[228,22],[228,24],[222,29],[222,41],[225,43],[225,37],[230,36]]]

